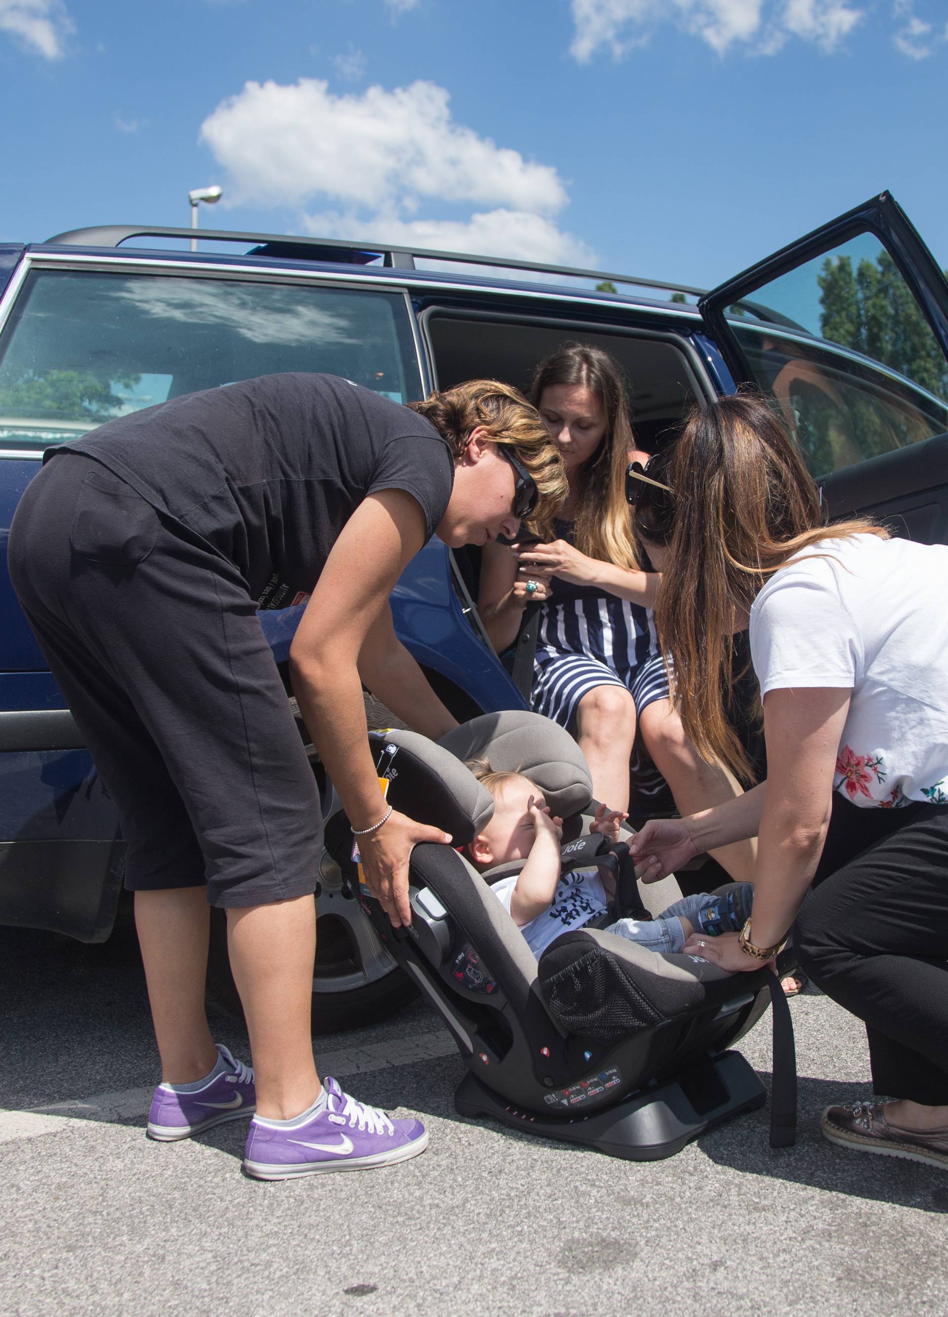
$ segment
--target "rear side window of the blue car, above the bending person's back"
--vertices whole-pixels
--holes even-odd
[[[199,389],[284,370],[421,395],[398,292],[34,270],[0,340],[0,448],[46,448]]]

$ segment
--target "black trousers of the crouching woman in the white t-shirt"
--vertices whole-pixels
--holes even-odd
[[[814,889],[801,968],[865,1022],[874,1092],[948,1105],[948,806],[835,794]]]

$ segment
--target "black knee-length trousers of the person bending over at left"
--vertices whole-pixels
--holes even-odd
[[[319,792],[237,568],[78,453],[28,486],[8,564],[117,806],[125,886],[313,892]]]

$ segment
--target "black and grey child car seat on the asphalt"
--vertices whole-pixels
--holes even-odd
[[[531,712],[486,714],[438,743],[411,731],[370,734],[387,799],[463,846],[494,810],[463,760],[521,770],[564,818],[565,849],[589,863],[603,839],[589,838],[589,768],[560,726]],[[586,842],[583,842],[583,836]],[[573,840],[570,840],[573,839]],[[344,814],[327,844],[353,889],[353,836]],[[620,846],[621,851],[623,847]],[[627,872],[628,868],[627,865]],[[760,1079],[731,1051],[766,1009],[789,1026],[776,976],[761,968],[728,975],[686,955],[656,955],[600,928],[557,938],[540,963],[485,876],[449,846],[415,847],[409,865],[412,923],[392,928],[362,884],[358,897],[395,960],[429,997],[452,1031],[469,1073],[456,1093],[462,1115],[488,1115],[531,1134],[595,1147],[612,1156],[672,1156],[690,1139],[764,1105]],[[679,896],[674,880],[641,886],[658,913]],[[776,1064],[789,1067],[793,1035],[781,1035]],[[777,1042],[777,1039],[776,1039]],[[787,1054],[787,1046],[790,1052]],[[795,1077],[795,1076],[794,1076]],[[793,1142],[795,1090],[774,1092],[772,1144]],[[789,1109],[791,1108],[791,1110]]]

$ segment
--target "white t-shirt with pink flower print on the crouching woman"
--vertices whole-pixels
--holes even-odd
[[[761,694],[852,689],[833,785],[855,805],[948,805],[948,547],[822,540],[750,610]]]

